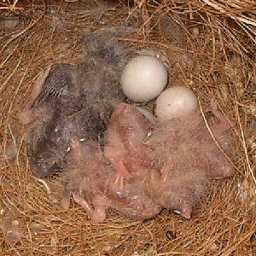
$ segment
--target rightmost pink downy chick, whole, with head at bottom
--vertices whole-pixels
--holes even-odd
[[[209,122],[215,141],[199,107],[183,117],[158,122],[148,139],[149,155],[160,167],[149,178],[149,196],[185,218],[190,218],[193,207],[207,195],[211,178],[235,174],[227,158],[233,148],[230,125],[215,103],[207,112],[215,118]]]

